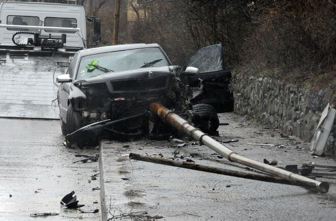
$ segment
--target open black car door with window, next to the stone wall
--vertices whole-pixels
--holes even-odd
[[[190,57],[186,67],[200,70],[199,75],[190,77],[191,87],[192,82],[203,80],[203,91],[191,100],[192,104],[211,104],[217,113],[233,110],[233,95],[229,90],[231,71],[224,67],[221,44],[202,47]]]

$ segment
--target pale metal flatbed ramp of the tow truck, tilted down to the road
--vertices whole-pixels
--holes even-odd
[[[30,55],[27,51],[0,51],[0,117],[59,119],[58,87],[53,72],[69,57]],[[4,60],[6,60],[4,62]],[[1,63],[1,62],[0,62]],[[57,67],[54,77],[66,72]]]

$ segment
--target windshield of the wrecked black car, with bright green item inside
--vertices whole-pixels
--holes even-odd
[[[168,65],[162,51],[157,47],[93,54],[81,58],[76,79],[86,79],[112,71]]]

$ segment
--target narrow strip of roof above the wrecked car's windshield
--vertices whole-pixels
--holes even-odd
[[[79,50],[79,56],[89,56],[92,54],[99,54],[99,53],[106,53],[106,52],[113,52],[113,51],[120,51],[120,50],[131,50],[131,49],[138,49],[138,48],[149,48],[149,47],[160,47],[158,44],[119,44],[119,45],[112,45],[112,46],[104,46],[104,47],[94,47],[89,49]]]

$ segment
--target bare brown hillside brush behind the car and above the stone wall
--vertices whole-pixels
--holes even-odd
[[[310,89],[336,86],[332,0],[142,0],[127,42],[157,42],[175,63],[221,43],[229,68]]]

